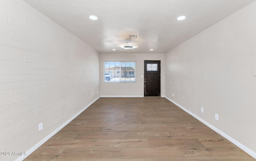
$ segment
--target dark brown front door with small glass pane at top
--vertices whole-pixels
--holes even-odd
[[[160,96],[160,61],[144,61],[144,96]]]

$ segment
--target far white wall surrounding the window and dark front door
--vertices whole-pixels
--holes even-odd
[[[107,97],[144,97],[144,60],[161,61],[161,96],[164,96],[165,54],[106,54],[100,53],[100,95]],[[136,83],[105,83],[104,61],[136,61]],[[143,78],[140,78],[140,75]]]

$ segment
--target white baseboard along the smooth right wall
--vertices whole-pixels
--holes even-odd
[[[169,101],[171,101],[172,103],[174,103],[175,105],[177,105],[178,107],[180,107],[181,109],[183,109],[184,111],[186,111],[187,113],[189,113],[190,115],[192,115],[193,117],[195,117],[196,119],[198,119],[200,122],[204,123],[204,125],[210,127],[212,130],[214,130],[216,133],[222,135],[223,137],[225,137],[226,139],[228,139],[228,141],[230,141],[231,143],[233,143],[234,145],[236,145],[237,147],[239,147],[240,149],[242,149],[243,151],[245,151],[246,153],[248,153],[249,155],[251,155],[252,157],[254,157],[256,159],[256,153],[254,151],[252,151],[251,149],[249,149],[248,147],[244,146],[243,144],[241,144],[240,142],[236,141],[235,139],[233,139],[232,137],[230,137],[229,135],[227,135],[226,133],[220,131],[218,128],[214,127],[213,125],[211,125],[210,123],[204,121],[203,119],[201,119],[200,117],[198,117],[197,115],[195,115],[194,113],[190,112],[188,109],[182,107],[181,105],[179,105],[178,103],[176,103],[175,101],[173,101],[172,99],[165,97],[166,99],[168,99]]]

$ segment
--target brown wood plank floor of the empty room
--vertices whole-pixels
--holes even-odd
[[[161,97],[102,97],[25,161],[249,161],[250,155]]]

